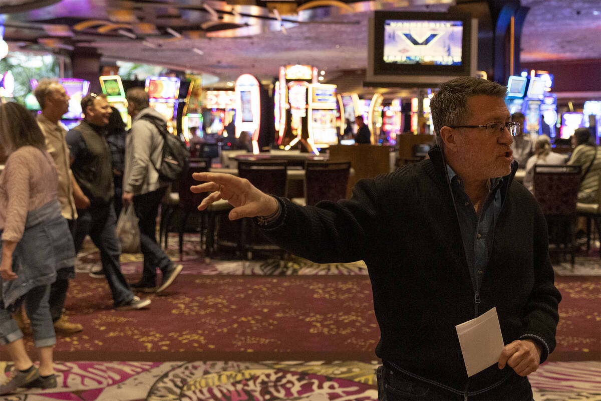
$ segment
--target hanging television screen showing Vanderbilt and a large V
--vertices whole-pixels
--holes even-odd
[[[469,14],[374,11],[368,40],[364,86],[433,86],[477,69],[477,23]]]

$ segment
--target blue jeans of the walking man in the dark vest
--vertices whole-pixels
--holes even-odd
[[[111,288],[114,306],[128,304],[133,299],[133,292],[121,273],[121,244],[115,233],[117,216],[112,202],[95,204],[77,212],[77,227],[73,237],[75,251],[80,251],[85,236],[90,235],[92,242],[100,250],[102,269]]]

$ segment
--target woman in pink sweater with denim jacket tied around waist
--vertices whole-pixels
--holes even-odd
[[[56,387],[56,337],[48,298],[56,271],[73,266],[75,249],[61,216],[58,176],[44,136],[17,103],[0,105],[0,146],[8,156],[0,174],[0,344],[14,362],[0,394],[8,394],[18,387]],[[27,355],[23,333],[11,317],[22,303],[40,351],[39,368]]]

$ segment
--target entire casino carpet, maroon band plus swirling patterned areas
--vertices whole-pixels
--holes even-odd
[[[60,387],[0,401],[377,399],[379,331],[364,265],[294,257],[204,263],[196,245],[188,241],[182,277],[151,295],[149,310],[118,313],[105,281],[82,272],[97,261],[85,249],[67,304],[85,329],[59,337]],[[169,255],[178,257],[174,249]],[[129,280],[139,277],[139,255],[122,262]],[[601,277],[558,272],[557,286],[558,347],[529,376],[535,400],[599,401]]]

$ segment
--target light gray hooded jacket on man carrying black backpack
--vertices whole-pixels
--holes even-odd
[[[132,121],[132,129],[125,141],[123,192],[134,195],[147,194],[168,185],[159,181],[159,173],[154,168],[160,167],[163,138],[150,121],[141,118],[147,114],[165,121],[158,111],[150,107],[139,112]]]

